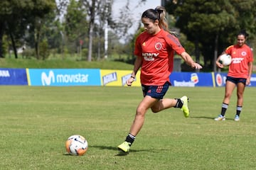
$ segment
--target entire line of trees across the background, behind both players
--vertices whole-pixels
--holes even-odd
[[[145,1],[137,1],[137,6]],[[12,50],[18,58],[18,47],[26,48],[24,57],[34,56],[38,60],[46,60],[50,54],[80,54],[81,60],[89,62],[112,52],[132,56],[134,40],[142,25],[134,23],[130,1],[125,2],[117,18],[112,14],[114,0],[1,0],[0,57]],[[252,48],[255,45],[255,0],[161,3],[169,13],[169,28],[178,31],[183,46],[205,68],[216,71],[216,57],[235,43],[239,30],[247,30],[247,42]],[[127,30],[134,24],[138,31],[130,35]],[[110,47],[106,50],[107,28]],[[120,43],[119,39],[124,37],[126,42]]]

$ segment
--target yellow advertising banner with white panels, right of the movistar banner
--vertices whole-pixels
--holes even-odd
[[[131,73],[132,71],[127,70],[102,69],[100,70],[101,84],[102,86],[126,86],[126,81],[131,77]],[[132,86],[141,86],[139,77],[140,71],[137,72]]]

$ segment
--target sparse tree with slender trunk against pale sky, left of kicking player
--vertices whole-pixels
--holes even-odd
[[[144,1],[146,0],[138,1],[138,6]],[[115,16],[112,16],[113,0],[78,0],[78,2],[81,4],[81,9],[86,12],[86,19],[89,23],[87,30],[87,39],[89,41],[87,61],[90,62],[92,60],[92,45],[95,36],[100,37],[102,30],[107,29],[106,27],[112,28],[114,33],[119,35],[119,37],[126,36],[128,28],[133,24],[131,18],[133,11],[129,10],[129,0],[127,0],[127,4],[122,8],[120,18],[114,19]],[[62,9],[65,8],[67,4],[67,0],[60,0]]]

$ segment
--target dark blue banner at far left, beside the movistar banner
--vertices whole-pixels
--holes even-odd
[[[26,69],[0,69],[0,85],[28,85]]]

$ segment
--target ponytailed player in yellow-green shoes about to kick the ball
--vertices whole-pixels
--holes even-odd
[[[162,6],[148,9],[142,13],[144,32],[139,35],[135,42],[134,55],[137,56],[137,59],[134,62],[132,75],[127,80],[127,85],[132,85],[137,71],[141,68],[140,79],[144,98],[137,107],[129,135],[118,146],[118,149],[122,152],[129,152],[132,142],[134,142],[136,135],[144,124],[144,117],[149,108],[154,113],[171,107],[181,108],[186,118],[189,115],[187,96],[164,98],[171,85],[169,76],[173,69],[174,52],[180,55],[192,68],[201,69],[202,67],[192,60],[191,56],[181,46],[178,38],[171,35],[165,13],[165,8]]]

